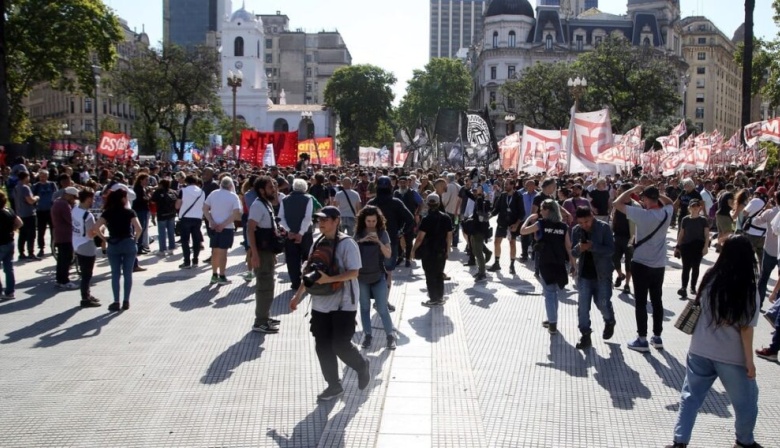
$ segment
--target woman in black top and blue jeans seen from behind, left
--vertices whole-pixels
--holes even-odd
[[[127,190],[120,188],[108,194],[92,237],[108,229],[108,263],[111,265],[111,290],[114,302],[109,311],[119,311],[119,277],[124,278],[124,301],[122,309],[130,309],[130,291],[133,288],[133,265],[141,238],[141,223],[135,211],[127,208]]]

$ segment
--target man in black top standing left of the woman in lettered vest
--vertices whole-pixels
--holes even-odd
[[[499,261],[501,259],[501,242],[509,235],[509,273],[515,274],[515,258],[517,258],[517,237],[520,236],[520,225],[525,216],[525,204],[523,196],[515,190],[515,183],[512,179],[504,180],[504,192],[493,202],[492,216],[498,216],[496,219],[496,239],[493,243],[493,250],[496,258],[488,270],[497,272],[501,270]]]

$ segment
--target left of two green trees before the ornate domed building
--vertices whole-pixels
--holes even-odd
[[[517,123],[537,129],[568,128],[574,98],[566,83],[574,76],[574,68],[565,62],[534,64],[501,86],[504,108],[515,114]]]

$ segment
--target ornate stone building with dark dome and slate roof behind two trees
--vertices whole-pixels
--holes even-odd
[[[669,57],[679,66],[682,78],[687,64],[682,53],[679,0],[627,2],[626,15],[615,15],[584,9],[594,4],[588,1],[539,0],[534,10],[528,0],[492,0],[484,14],[483,37],[470,55],[475,83],[471,107],[488,106],[497,137],[504,137],[514,124],[504,119],[512,112],[512,105],[501,98],[501,85],[537,62],[574,61],[609,35],[652,47],[659,56]]]

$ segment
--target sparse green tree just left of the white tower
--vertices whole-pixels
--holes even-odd
[[[155,123],[184,157],[187,132],[197,116],[221,110],[219,58],[209,47],[148,49],[113,74],[115,93],[128,98],[146,123]],[[145,140],[145,139],[144,139]]]

